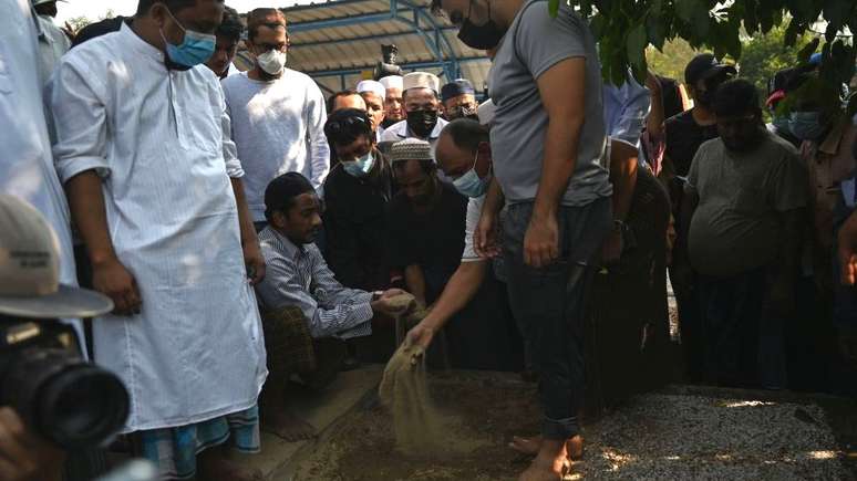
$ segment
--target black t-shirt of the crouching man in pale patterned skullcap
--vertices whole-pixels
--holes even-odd
[[[404,192],[399,192],[390,202],[388,217],[390,265],[419,264],[425,275],[426,297],[443,289],[464,251],[467,198],[446,182],[438,181],[438,186],[441,196],[431,211],[415,212]]]

